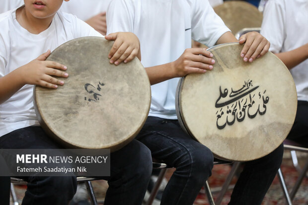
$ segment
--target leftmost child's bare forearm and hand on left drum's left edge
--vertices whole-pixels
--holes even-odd
[[[57,88],[58,85],[63,85],[62,80],[58,80],[52,75],[68,77],[68,73],[59,70],[66,70],[66,67],[53,61],[45,61],[49,55],[50,51],[48,50],[37,59],[1,77],[0,104],[9,99],[25,84],[40,85],[48,88]]]

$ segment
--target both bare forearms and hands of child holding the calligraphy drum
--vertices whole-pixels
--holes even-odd
[[[224,33],[216,44],[237,42],[231,32]],[[245,62],[252,62],[255,58],[263,56],[269,49],[270,43],[261,34],[249,32],[239,38],[239,43],[245,43],[240,55]],[[174,62],[146,68],[151,85],[171,79],[182,77],[189,73],[204,73],[213,69],[215,60],[213,54],[206,49],[186,49]]]

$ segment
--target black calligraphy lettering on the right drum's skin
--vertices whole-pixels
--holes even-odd
[[[269,97],[265,95],[266,90],[260,91],[260,88],[258,88],[259,85],[254,86],[250,79],[244,81],[239,89],[233,90],[231,87],[230,92],[228,88],[225,88],[222,92],[222,86],[219,87],[220,95],[215,103],[215,107],[218,108],[215,114],[217,115],[216,126],[219,130],[223,130],[226,125],[233,125],[235,120],[239,123],[242,122],[246,116],[253,119],[258,113],[259,115],[266,113],[266,104],[269,102]],[[262,103],[263,105],[260,108]]]

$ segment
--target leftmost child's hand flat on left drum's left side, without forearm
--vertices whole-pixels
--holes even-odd
[[[64,84],[64,81],[52,76],[68,77],[68,73],[59,70],[66,70],[67,67],[54,61],[45,61],[49,55],[50,50],[30,63],[18,68],[22,71],[21,76],[24,84],[40,85],[48,88],[57,88],[58,85]]]

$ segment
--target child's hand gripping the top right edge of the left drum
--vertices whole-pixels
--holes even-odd
[[[118,65],[132,61],[136,56],[140,59],[140,43],[138,37],[131,32],[117,32],[105,36],[107,40],[115,40],[108,54],[111,64]]]

